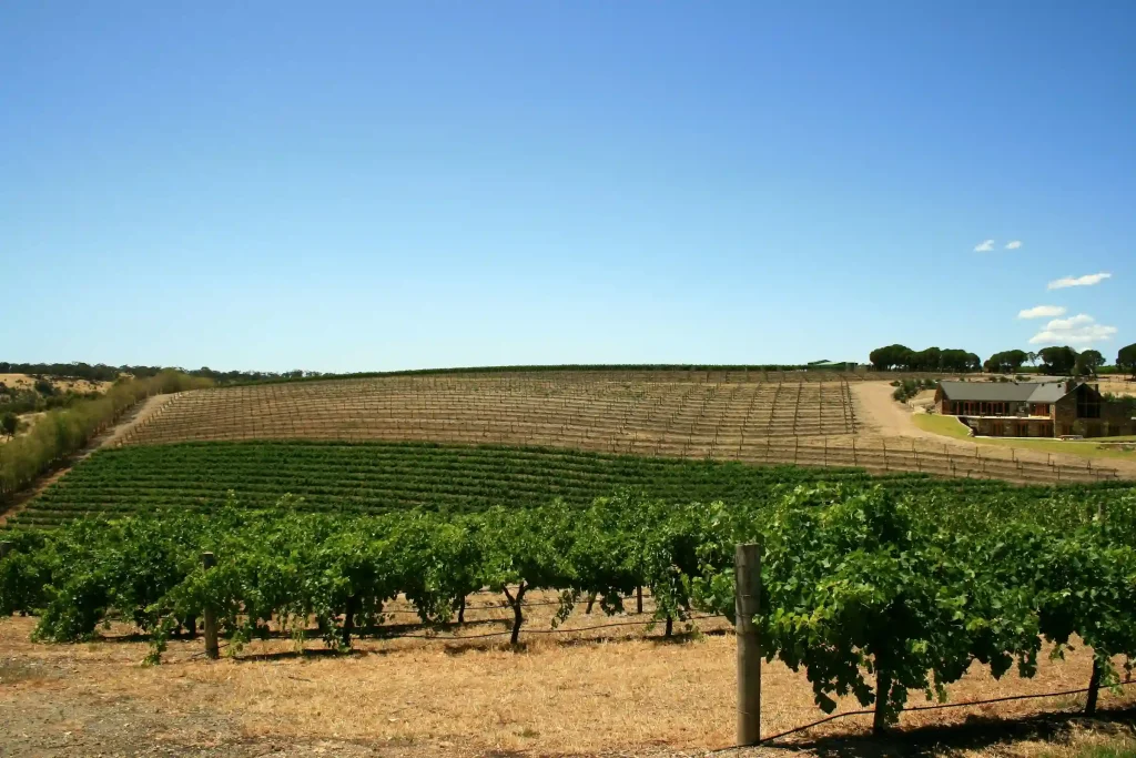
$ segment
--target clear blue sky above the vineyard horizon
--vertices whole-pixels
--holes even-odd
[[[1112,359],[1133,81],[1118,2],[3,3],[0,358]]]

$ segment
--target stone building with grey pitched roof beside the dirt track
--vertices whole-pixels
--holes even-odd
[[[1136,419],[1077,380],[939,382],[935,407],[985,436],[1136,434]]]

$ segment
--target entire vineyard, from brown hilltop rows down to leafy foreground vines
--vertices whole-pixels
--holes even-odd
[[[424,375],[154,399],[8,515],[0,617],[32,616],[37,641],[125,628],[151,663],[201,632],[206,655],[234,657],[698,639],[732,628],[734,549],[757,542],[763,653],[803,670],[825,711],[853,698],[883,730],[975,666],[1034,676],[1046,647],[1091,649],[1091,710],[1120,682],[1136,486],[866,438],[844,378],[769,378]]]

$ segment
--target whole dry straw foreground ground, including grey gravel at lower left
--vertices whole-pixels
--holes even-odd
[[[550,609],[532,613],[532,628],[549,628]],[[498,609],[479,617],[504,622],[507,616]],[[570,624],[603,620],[577,611]],[[495,624],[483,628],[503,628]],[[40,645],[28,642],[32,625],[26,618],[0,622],[0,744],[12,755],[134,755],[130,744],[143,740],[154,747],[147,755],[191,748],[204,750],[201,755],[262,755],[265,745],[285,744],[303,745],[294,755],[677,756],[701,755],[733,740],[735,642],[728,633],[670,641],[659,628],[618,630],[621,636],[604,639],[529,635],[520,651],[491,640],[361,640],[349,656],[325,655],[319,642],[308,642],[307,655],[300,655],[293,641],[278,639],[254,642],[216,663],[203,659],[200,640],[174,641],[166,663],[145,667],[140,663],[148,651],[144,642],[120,636]],[[109,634],[128,631],[116,627]],[[1076,650],[1066,661],[1045,660],[1033,680],[1008,675],[1001,682],[976,666],[951,689],[951,698],[1083,688],[1089,660],[1087,651]],[[774,663],[763,677],[763,733],[822,716],[803,673]],[[912,695],[912,705],[922,702],[922,695]],[[910,714],[902,719],[899,744],[924,739],[920,730],[927,727],[950,727],[934,741],[951,740],[966,733],[954,727],[969,728],[975,719],[1013,719],[1009,725],[1020,726],[1039,714],[1076,710],[1081,702],[1063,697]],[[1106,693],[1102,703],[1133,706],[1136,692]],[[840,708],[859,705],[846,699]],[[1006,728],[999,723],[971,747],[983,751],[991,749],[986,742],[997,743],[999,730]],[[852,749],[846,745],[859,744],[852,749],[857,752],[876,744],[862,742],[869,725],[867,717],[850,717],[788,743],[818,752],[833,745],[845,745],[837,751],[846,752]],[[1034,740],[1052,736],[1030,732]],[[73,752],[51,752],[62,747]]]

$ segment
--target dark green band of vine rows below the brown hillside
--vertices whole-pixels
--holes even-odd
[[[229,491],[256,508],[302,498],[304,510],[379,514],[426,508],[458,514],[493,506],[531,508],[561,498],[586,506],[630,488],[668,502],[762,501],[796,484],[880,483],[925,498],[972,493],[1000,502],[1081,497],[1086,502],[1128,492],[1116,482],[1080,488],[1014,488],[991,480],[918,475],[872,478],[863,470],[747,466],[734,461],[643,458],[554,448],[415,442],[187,442],[106,449],[12,516],[8,526],[52,527],[83,515],[212,509]]]

